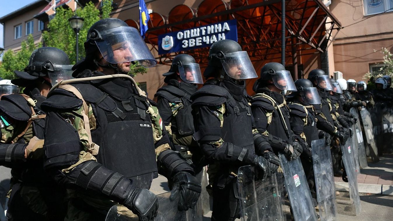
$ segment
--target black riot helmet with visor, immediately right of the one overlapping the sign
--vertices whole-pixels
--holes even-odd
[[[296,91],[294,80],[291,73],[285,67],[277,62],[265,64],[261,69],[261,77],[255,82],[253,90],[267,86],[268,80],[272,80],[274,85],[281,90]]]

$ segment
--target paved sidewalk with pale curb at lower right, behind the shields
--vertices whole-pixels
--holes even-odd
[[[364,169],[360,169],[358,175],[358,188],[361,193],[393,195],[393,155],[380,156],[378,163],[368,163]],[[334,177],[336,189],[347,188],[348,183],[341,177]]]

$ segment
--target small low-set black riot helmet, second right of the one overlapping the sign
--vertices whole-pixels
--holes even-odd
[[[312,82],[307,79],[298,79],[295,81],[296,89],[295,93],[298,93],[303,102],[307,104],[321,104],[321,99],[318,95],[318,89],[314,87]]]

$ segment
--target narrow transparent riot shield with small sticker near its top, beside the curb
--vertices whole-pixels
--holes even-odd
[[[338,204],[344,204],[343,210],[338,210],[338,213],[345,215],[357,216],[360,214],[362,209],[360,205],[360,197],[358,191],[358,176],[355,171],[354,165],[354,153],[352,150],[351,142],[348,141],[345,145],[341,145],[341,150],[343,153],[342,160],[345,167],[345,172],[347,173],[348,183],[349,183],[349,200],[340,199],[337,200]]]

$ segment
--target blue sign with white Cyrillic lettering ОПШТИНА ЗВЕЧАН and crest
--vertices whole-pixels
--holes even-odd
[[[236,20],[228,20],[158,35],[158,54],[210,47],[222,39],[237,41]]]

